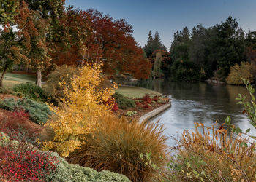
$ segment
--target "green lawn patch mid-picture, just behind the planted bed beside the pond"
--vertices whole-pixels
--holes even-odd
[[[143,98],[143,96],[146,93],[148,93],[151,96],[161,95],[159,92],[153,90],[133,86],[118,86],[117,92],[121,93],[122,95],[128,98]]]

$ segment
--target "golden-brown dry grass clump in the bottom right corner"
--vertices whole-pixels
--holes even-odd
[[[200,131],[199,128],[202,130]],[[191,181],[255,181],[255,143],[249,138],[230,134],[222,125],[204,127],[195,123],[195,130],[184,130],[178,141],[181,166],[176,179]],[[248,145],[246,144],[248,143]]]

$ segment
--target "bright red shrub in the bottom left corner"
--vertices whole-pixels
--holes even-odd
[[[1,147],[0,175],[5,180],[39,181],[56,169],[56,157],[32,148],[24,142],[14,147],[12,140]]]

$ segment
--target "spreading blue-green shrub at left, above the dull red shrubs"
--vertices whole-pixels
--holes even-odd
[[[15,111],[21,108],[29,113],[29,119],[37,124],[44,124],[48,119],[48,115],[51,114],[49,107],[45,103],[37,103],[36,101],[27,98],[19,99],[17,101],[15,101],[14,98],[0,100],[0,108],[10,111]]]

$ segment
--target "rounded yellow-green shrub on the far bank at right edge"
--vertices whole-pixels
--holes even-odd
[[[241,65],[234,65],[230,68],[230,74],[227,76],[227,84],[243,84],[243,79],[253,82],[252,63],[241,62]]]

